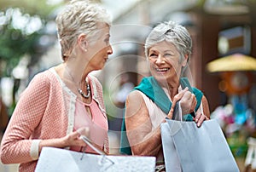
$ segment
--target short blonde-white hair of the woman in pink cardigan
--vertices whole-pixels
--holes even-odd
[[[106,9],[89,0],[73,0],[57,15],[56,25],[64,60],[74,49],[79,34],[88,39],[96,36],[99,23],[111,26],[111,18]]]

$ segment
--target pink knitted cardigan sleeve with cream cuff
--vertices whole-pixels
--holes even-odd
[[[38,139],[32,140],[49,100],[49,79],[36,75],[20,96],[1,143],[3,163],[26,163],[38,159]]]

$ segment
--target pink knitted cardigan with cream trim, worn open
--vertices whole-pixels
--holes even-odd
[[[90,81],[95,93],[93,99],[107,120],[102,85],[96,77],[90,76]],[[73,131],[76,95],[63,86],[54,68],[32,79],[3,135],[0,150],[3,163],[20,163],[20,171],[34,171],[39,141],[64,137]]]

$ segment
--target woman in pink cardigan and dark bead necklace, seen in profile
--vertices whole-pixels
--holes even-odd
[[[20,163],[19,171],[34,171],[44,146],[96,153],[80,135],[108,152],[102,85],[89,73],[113,53],[109,15],[96,3],[71,1],[56,24],[63,62],[33,77],[3,135],[1,160]]]

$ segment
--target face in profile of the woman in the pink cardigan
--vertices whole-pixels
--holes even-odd
[[[108,55],[113,54],[109,43],[109,26],[101,24],[99,27],[96,39],[90,41],[88,45],[88,55],[90,56],[88,65],[92,71],[101,70],[108,60]]]

